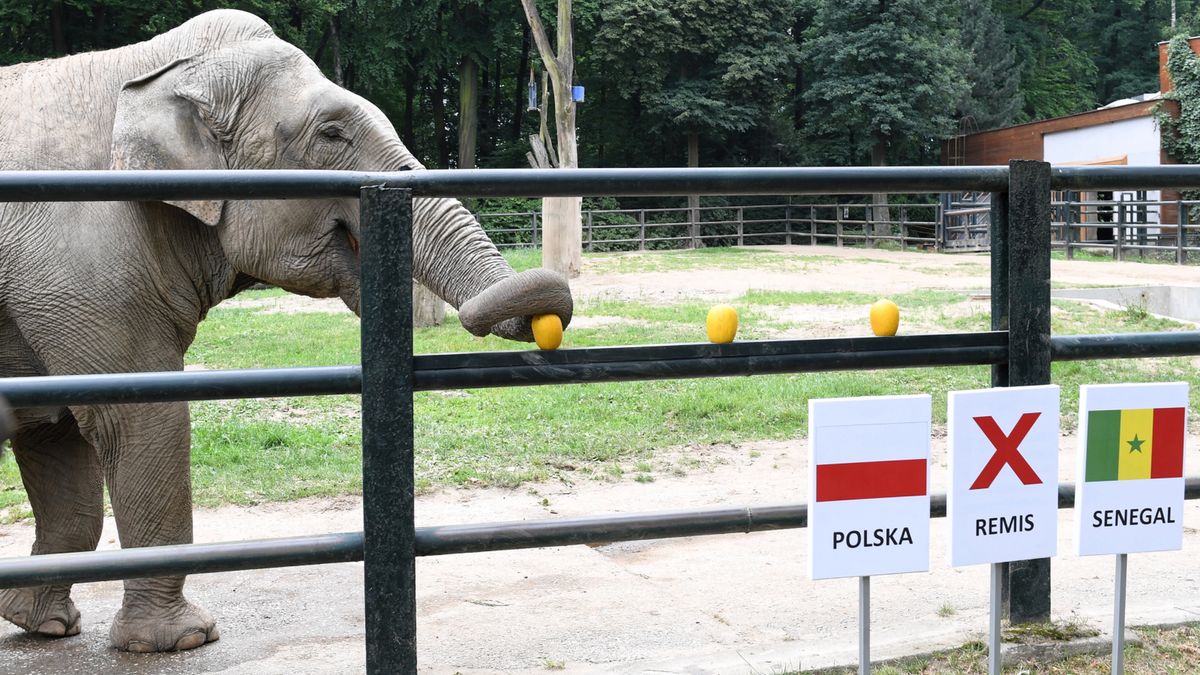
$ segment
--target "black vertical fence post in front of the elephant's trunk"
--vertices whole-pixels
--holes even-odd
[[[362,530],[367,673],[416,673],[413,196],[364,187]]]

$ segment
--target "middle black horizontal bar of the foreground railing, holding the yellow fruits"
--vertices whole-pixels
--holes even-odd
[[[1054,360],[1200,354],[1200,331],[1060,335]],[[758,340],[712,345],[638,345],[421,354],[413,359],[416,389],[469,389],[566,382],[629,382],[821,372],[871,368],[988,365],[1007,357],[1007,334],[952,333],[895,338]],[[13,407],[132,404],[270,396],[358,394],[359,366],[186,372],[130,372],[0,378]]]

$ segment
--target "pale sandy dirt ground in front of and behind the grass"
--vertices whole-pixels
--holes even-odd
[[[730,298],[749,288],[899,293],[988,288],[984,257],[790,247],[836,261],[820,271],[763,270],[598,274],[572,282],[578,297]],[[1200,271],[1174,265],[1055,262],[1064,283],[1196,285]],[[296,303],[271,299],[278,311]],[[334,303],[331,311],[342,311]],[[581,317],[586,318],[586,317]],[[1072,479],[1075,438],[1062,442]],[[944,440],[935,434],[935,491],[944,491]],[[1187,444],[1188,476],[1200,476],[1200,437]],[[806,500],[804,441],[686,448],[703,471],[654,483],[530,484],[520,489],[445,489],[418,500],[418,525],[532,520],[608,513],[798,503]],[[1073,512],[1060,512],[1054,563],[1055,616],[1105,629],[1111,621],[1112,558],[1078,557]],[[1184,513],[1183,551],[1130,556],[1128,621],[1200,620],[1200,503]],[[358,497],[200,509],[196,539],[220,542],[361,530]],[[872,584],[876,658],[930,651],[985,629],[988,569],[950,568],[946,522],[932,522],[929,573]],[[25,555],[31,524],[0,526],[0,556]],[[115,548],[109,519],[102,548]],[[808,579],[804,530],[692,537],[606,546],[565,546],[422,558],[418,563],[422,673],[781,673],[852,663],[852,579]],[[50,641],[0,626],[0,675],[50,673],[284,675],[361,671],[361,565],[192,577],[188,593],[217,617],[222,638],[176,655],[121,655],[107,647],[120,584],[78,585],[78,638]]]

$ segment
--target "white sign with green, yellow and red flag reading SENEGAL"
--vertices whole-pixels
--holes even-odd
[[[1079,555],[1183,548],[1188,386],[1090,384],[1079,393]]]

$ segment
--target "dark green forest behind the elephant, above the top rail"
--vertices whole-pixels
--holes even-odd
[[[0,0],[0,65],[216,7],[266,19],[427,167],[528,166],[541,68],[518,0]],[[1156,43],[1200,32],[1200,0],[575,0],[572,16],[582,167],[685,166],[689,141],[701,166],[938,163],[959,130],[1157,91]]]

